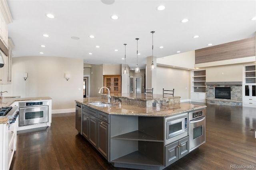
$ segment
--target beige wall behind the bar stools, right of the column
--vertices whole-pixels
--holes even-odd
[[[181,100],[189,99],[189,70],[157,66],[156,71],[157,87],[156,91],[154,88],[154,94],[163,94],[163,88],[166,90],[174,89],[174,96],[180,96]]]

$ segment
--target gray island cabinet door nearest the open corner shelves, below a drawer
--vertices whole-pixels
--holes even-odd
[[[109,124],[98,120],[98,151],[108,160],[108,136],[109,136]]]

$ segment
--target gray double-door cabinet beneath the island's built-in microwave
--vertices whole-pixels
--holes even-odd
[[[173,142],[165,147],[165,166],[169,166],[189,153],[189,137]]]

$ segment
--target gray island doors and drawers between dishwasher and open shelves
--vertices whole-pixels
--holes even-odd
[[[82,106],[82,135],[109,161],[109,115]]]

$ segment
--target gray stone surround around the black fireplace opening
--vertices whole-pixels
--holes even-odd
[[[225,106],[242,106],[242,82],[206,82],[206,103]],[[230,87],[231,99],[215,98],[215,87]]]

